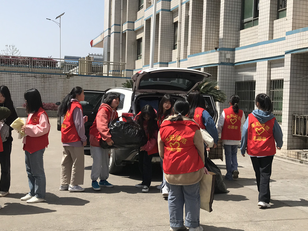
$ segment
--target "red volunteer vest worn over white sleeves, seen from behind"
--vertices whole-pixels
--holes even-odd
[[[221,140],[241,140],[241,119],[243,111],[235,113],[232,106],[224,109],[225,122],[221,132]]]

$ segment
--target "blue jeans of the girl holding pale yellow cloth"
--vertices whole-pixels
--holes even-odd
[[[31,197],[45,198],[46,177],[44,172],[43,154],[45,148],[30,153],[25,151],[26,171],[28,174]]]

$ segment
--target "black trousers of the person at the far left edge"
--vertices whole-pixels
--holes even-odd
[[[11,181],[11,150],[12,141],[5,141],[3,144],[3,152],[0,152],[0,165],[1,165],[1,178],[0,178],[0,191],[6,192],[10,189]]]

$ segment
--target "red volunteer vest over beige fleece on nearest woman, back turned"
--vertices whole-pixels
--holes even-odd
[[[163,169],[167,174],[196,172],[204,167],[193,136],[199,126],[193,121],[164,121],[160,125],[160,137],[164,142]]]

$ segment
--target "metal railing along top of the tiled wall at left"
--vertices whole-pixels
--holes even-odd
[[[52,59],[0,55],[0,69],[13,71],[39,71],[74,75],[124,76],[125,63],[85,59]]]

